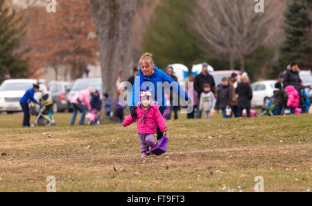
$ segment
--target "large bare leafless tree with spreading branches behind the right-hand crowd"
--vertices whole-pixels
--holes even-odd
[[[255,3],[251,0],[196,1],[198,6],[191,15],[193,28],[220,59],[228,59],[231,69],[239,62],[244,71],[244,57],[276,35],[272,26],[281,13],[281,1],[266,1],[264,13],[255,12]],[[207,50],[207,45],[205,47]]]

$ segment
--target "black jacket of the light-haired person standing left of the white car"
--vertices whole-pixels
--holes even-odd
[[[239,95],[238,104],[239,108],[250,108],[250,101],[252,100],[252,88],[249,83],[239,83],[236,88],[236,93]]]

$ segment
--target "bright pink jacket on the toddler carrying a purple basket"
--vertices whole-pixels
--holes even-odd
[[[162,118],[159,107],[160,106],[157,105],[150,106],[150,109],[146,111],[146,118],[144,119],[144,122],[142,122],[142,119],[144,118],[144,110],[141,106],[137,106],[137,118],[132,118],[131,115],[129,115],[123,122],[123,127],[129,126],[137,120],[138,133],[157,133],[157,125],[160,131],[166,131],[166,123],[164,122],[164,118]]]

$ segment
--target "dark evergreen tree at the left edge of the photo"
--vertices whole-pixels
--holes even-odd
[[[0,0],[0,82],[7,78],[27,77],[28,60],[22,55],[28,49],[21,50],[21,38],[25,35],[25,24],[15,11]]]

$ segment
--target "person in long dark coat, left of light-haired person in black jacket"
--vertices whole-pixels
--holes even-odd
[[[230,107],[231,101],[232,101],[232,89],[229,87],[227,77],[223,77],[222,84],[218,91],[218,97],[216,102],[218,109],[222,110],[223,118],[230,118],[230,116],[226,114],[226,109],[227,107]]]

